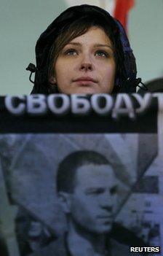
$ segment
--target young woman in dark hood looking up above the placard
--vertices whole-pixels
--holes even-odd
[[[100,7],[70,7],[36,43],[32,93],[133,93],[135,56],[122,25]],[[31,79],[31,78],[30,78]]]

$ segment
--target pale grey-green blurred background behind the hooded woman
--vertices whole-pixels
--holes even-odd
[[[113,12],[115,0],[0,0],[0,94],[29,94],[25,71],[35,63],[35,44],[44,29],[69,6],[94,4]],[[135,0],[128,12],[127,30],[143,82],[163,77],[163,0]]]

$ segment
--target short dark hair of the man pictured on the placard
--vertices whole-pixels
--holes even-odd
[[[110,164],[106,157],[95,151],[80,150],[67,155],[57,169],[57,192],[73,193],[77,168],[91,163],[96,165]]]

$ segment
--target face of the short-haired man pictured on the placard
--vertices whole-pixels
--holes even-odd
[[[92,233],[111,230],[116,208],[116,177],[109,165],[88,164],[76,170],[71,194],[73,222]]]

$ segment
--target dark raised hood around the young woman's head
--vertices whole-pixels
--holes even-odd
[[[57,93],[54,90],[52,91],[52,86],[49,85],[48,81],[49,53],[52,44],[57,35],[60,34],[60,30],[63,26],[68,26],[68,24],[73,23],[73,21],[80,17],[93,17],[95,15],[98,16],[99,19],[111,20],[113,30],[116,31],[115,36],[117,39],[119,37],[120,44],[122,44],[121,49],[124,58],[119,65],[121,66],[121,71],[116,76],[116,82],[120,81],[119,92],[135,92],[135,79],[137,73],[135,56],[130,48],[130,43],[124,28],[121,23],[112,18],[104,9],[84,4],[66,9],[47,27],[41,36],[39,36],[39,39],[36,42],[36,74],[32,93]]]

